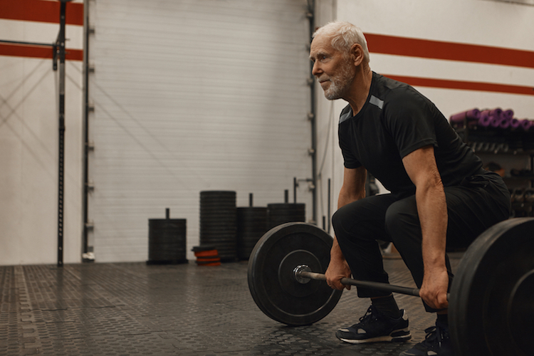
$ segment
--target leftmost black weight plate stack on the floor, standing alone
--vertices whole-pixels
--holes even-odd
[[[148,219],[147,264],[185,263],[186,219]]]

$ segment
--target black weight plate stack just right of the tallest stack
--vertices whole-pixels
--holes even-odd
[[[237,208],[237,255],[248,260],[261,236],[267,232],[268,213],[266,207]]]

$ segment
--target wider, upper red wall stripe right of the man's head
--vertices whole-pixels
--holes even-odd
[[[367,38],[369,51],[372,53],[534,68],[533,51],[375,33],[365,33],[365,38]]]

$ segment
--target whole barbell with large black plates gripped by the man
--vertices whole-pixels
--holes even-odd
[[[325,281],[333,238],[313,224],[276,226],[248,260],[248,288],[269,318],[310,325],[342,295]],[[342,283],[419,296],[417,288],[343,278]],[[501,221],[461,258],[451,285],[449,325],[459,355],[533,355],[534,218]]]

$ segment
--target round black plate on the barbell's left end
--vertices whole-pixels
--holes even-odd
[[[312,271],[325,273],[332,241],[323,229],[302,222],[276,226],[263,235],[248,259],[248,288],[258,308],[273,320],[295,326],[328,315],[342,292],[324,281],[298,283],[293,269],[308,264]]]

